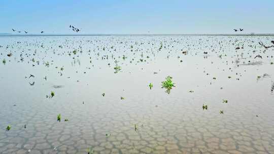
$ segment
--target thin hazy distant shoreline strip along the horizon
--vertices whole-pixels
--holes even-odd
[[[0,33],[0,36],[152,36],[152,35],[182,35],[182,36],[274,36],[274,33],[254,33],[254,34],[7,34]]]

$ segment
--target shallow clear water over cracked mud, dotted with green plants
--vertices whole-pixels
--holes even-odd
[[[0,37],[0,153],[274,153],[274,48],[258,44],[271,40]]]

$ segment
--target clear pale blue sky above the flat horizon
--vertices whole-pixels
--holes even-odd
[[[0,33],[274,33],[274,1],[0,0]]]

